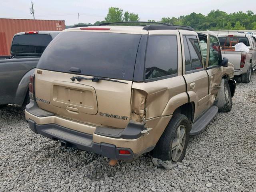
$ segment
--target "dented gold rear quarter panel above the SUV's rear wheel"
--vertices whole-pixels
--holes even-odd
[[[146,120],[171,115],[176,108],[188,102],[186,84],[182,76],[147,83],[134,82],[132,88],[147,93]]]

